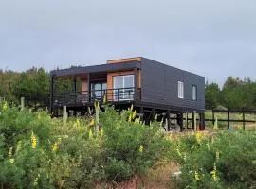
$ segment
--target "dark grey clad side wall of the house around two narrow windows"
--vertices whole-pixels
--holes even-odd
[[[141,62],[143,102],[168,104],[194,110],[205,109],[205,78],[172,66],[144,59]],[[184,98],[178,98],[178,81],[184,83]],[[192,85],[197,86],[197,100],[192,100]]]

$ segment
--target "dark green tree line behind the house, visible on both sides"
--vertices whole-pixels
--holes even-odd
[[[0,70],[0,97],[19,103],[21,97],[31,105],[49,105],[50,75],[44,68],[25,72]],[[58,92],[70,91],[71,81],[57,80],[54,89]],[[79,89],[79,88],[78,88]],[[217,83],[206,82],[206,108],[256,109],[256,81],[250,78],[228,77],[220,87]]]

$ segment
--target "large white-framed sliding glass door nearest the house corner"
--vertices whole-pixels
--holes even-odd
[[[114,100],[134,99],[134,75],[117,76],[114,79]]]

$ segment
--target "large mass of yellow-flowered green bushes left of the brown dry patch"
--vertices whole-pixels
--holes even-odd
[[[0,104],[0,188],[92,188],[144,173],[167,155],[171,142],[159,123],[145,127],[132,108],[63,123],[44,111]]]

